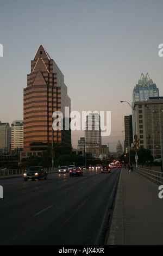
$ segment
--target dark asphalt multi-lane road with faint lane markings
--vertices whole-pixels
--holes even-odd
[[[0,180],[0,245],[103,245],[120,169]]]

